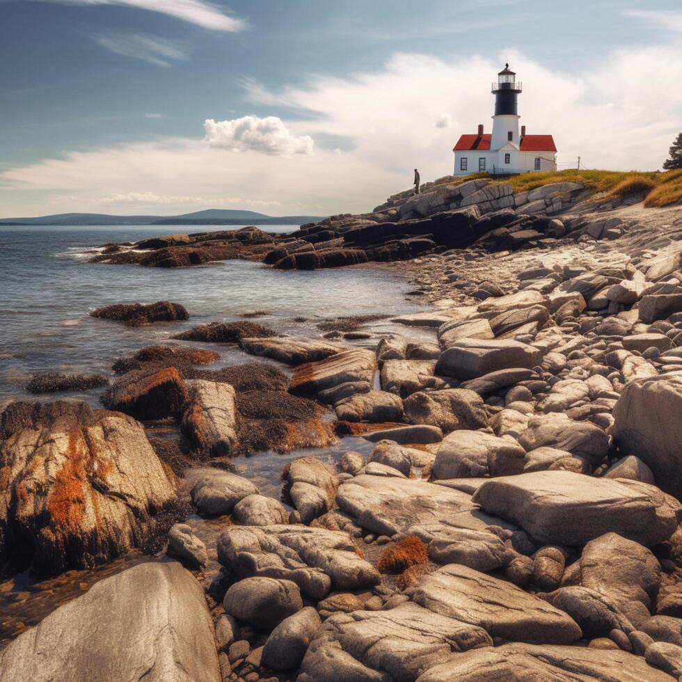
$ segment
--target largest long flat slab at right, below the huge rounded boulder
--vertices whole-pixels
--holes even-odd
[[[570,471],[490,479],[473,500],[539,542],[569,546],[608,532],[653,546],[675,532],[681,510],[677,500],[649,484]]]

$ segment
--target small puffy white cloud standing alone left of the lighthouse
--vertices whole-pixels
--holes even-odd
[[[243,116],[225,121],[204,122],[205,142],[217,149],[251,150],[262,154],[312,154],[315,142],[309,135],[296,136],[281,118]]]

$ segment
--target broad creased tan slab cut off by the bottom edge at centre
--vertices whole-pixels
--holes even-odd
[[[453,651],[488,647],[482,628],[405,603],[335,614],[306,652],[298,682],[413,681]]]

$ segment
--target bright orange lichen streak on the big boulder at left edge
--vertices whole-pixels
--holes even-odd
[[[79,532],[84,514],[86,442],[81,429],[72,429],[68,438],[68,457],[56,475],[47,500],[52,525],[59,535]]]

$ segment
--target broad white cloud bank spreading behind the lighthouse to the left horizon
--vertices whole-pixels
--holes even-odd
[[[661,167],[682,120],[682,89],[669,86],[682,81],[679,41],[612,51],[566,71],[511,49],[498,58],[397,54],[381,68],[343,79],[319,76],[299,87],[248,88],[253,100],[298,114],[275,118],[271,137],[260,129],[267,118],[245,117],[250,122],[243,132],[237,129],[244,119],[209,120],[206,141],[198,125],[194,138],[72,152],[10,168],[0,173],[0,186],[10,190],[3,192],[3,212],[40,212],[36,198],[56,193],[79,196],[72,210],[86,211],[97,207],[103,193],[145,192],[209,199],[227,193],[278,201],[291,214],[368,211],[408,189],[413,168],[424,182],[451,173],[452,145],[460,134],[476,132],[479,123],[490,132],[490,81],[507,55],[523,79],[521,123],[529,134],[553,134],[560,164],[580,155],[587,168]],[[444,111],[457,123],[434,126]],[[312,150],[313,139],[315,154],[293,153]],[[322,145],[324,139],[348,145]],[[337,147],[344,152],[335,153]],[[177,212],[188,205],[178,203]],[[173,204],[164,206],[170,212]]]

